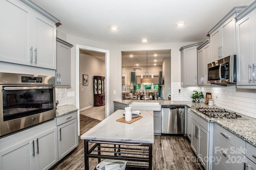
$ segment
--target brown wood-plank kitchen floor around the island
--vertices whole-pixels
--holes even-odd
[[[80,115],[80,133],[83,134],[99,120]],[[89,159],[90,170],[94,170],[98,160]],[[203,170],[196,162],[190,142],[186,137],[154,136],[153,170]],[[79,138],[78,147],[58,162],[52,170],[84,170],[84,141]]]

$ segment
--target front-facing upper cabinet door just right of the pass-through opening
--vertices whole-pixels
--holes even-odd
[[[197,49],[196,46],[183,51],[184,85],[197,85]]]

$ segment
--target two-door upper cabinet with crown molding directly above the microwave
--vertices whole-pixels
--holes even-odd
[[[246,6],[233,8],[209,32],[211,44],[211,62],[236,54],[236,15]]]

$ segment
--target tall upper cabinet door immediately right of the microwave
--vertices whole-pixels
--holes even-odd
[[[253,85],[252,64],[253,64],[253,13],[250,12],[236,23],[237,38],[237,85]]]

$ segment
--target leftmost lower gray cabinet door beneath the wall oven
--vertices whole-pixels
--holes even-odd
[[[33,170],[33,138],[0,151],[0,170]]]

